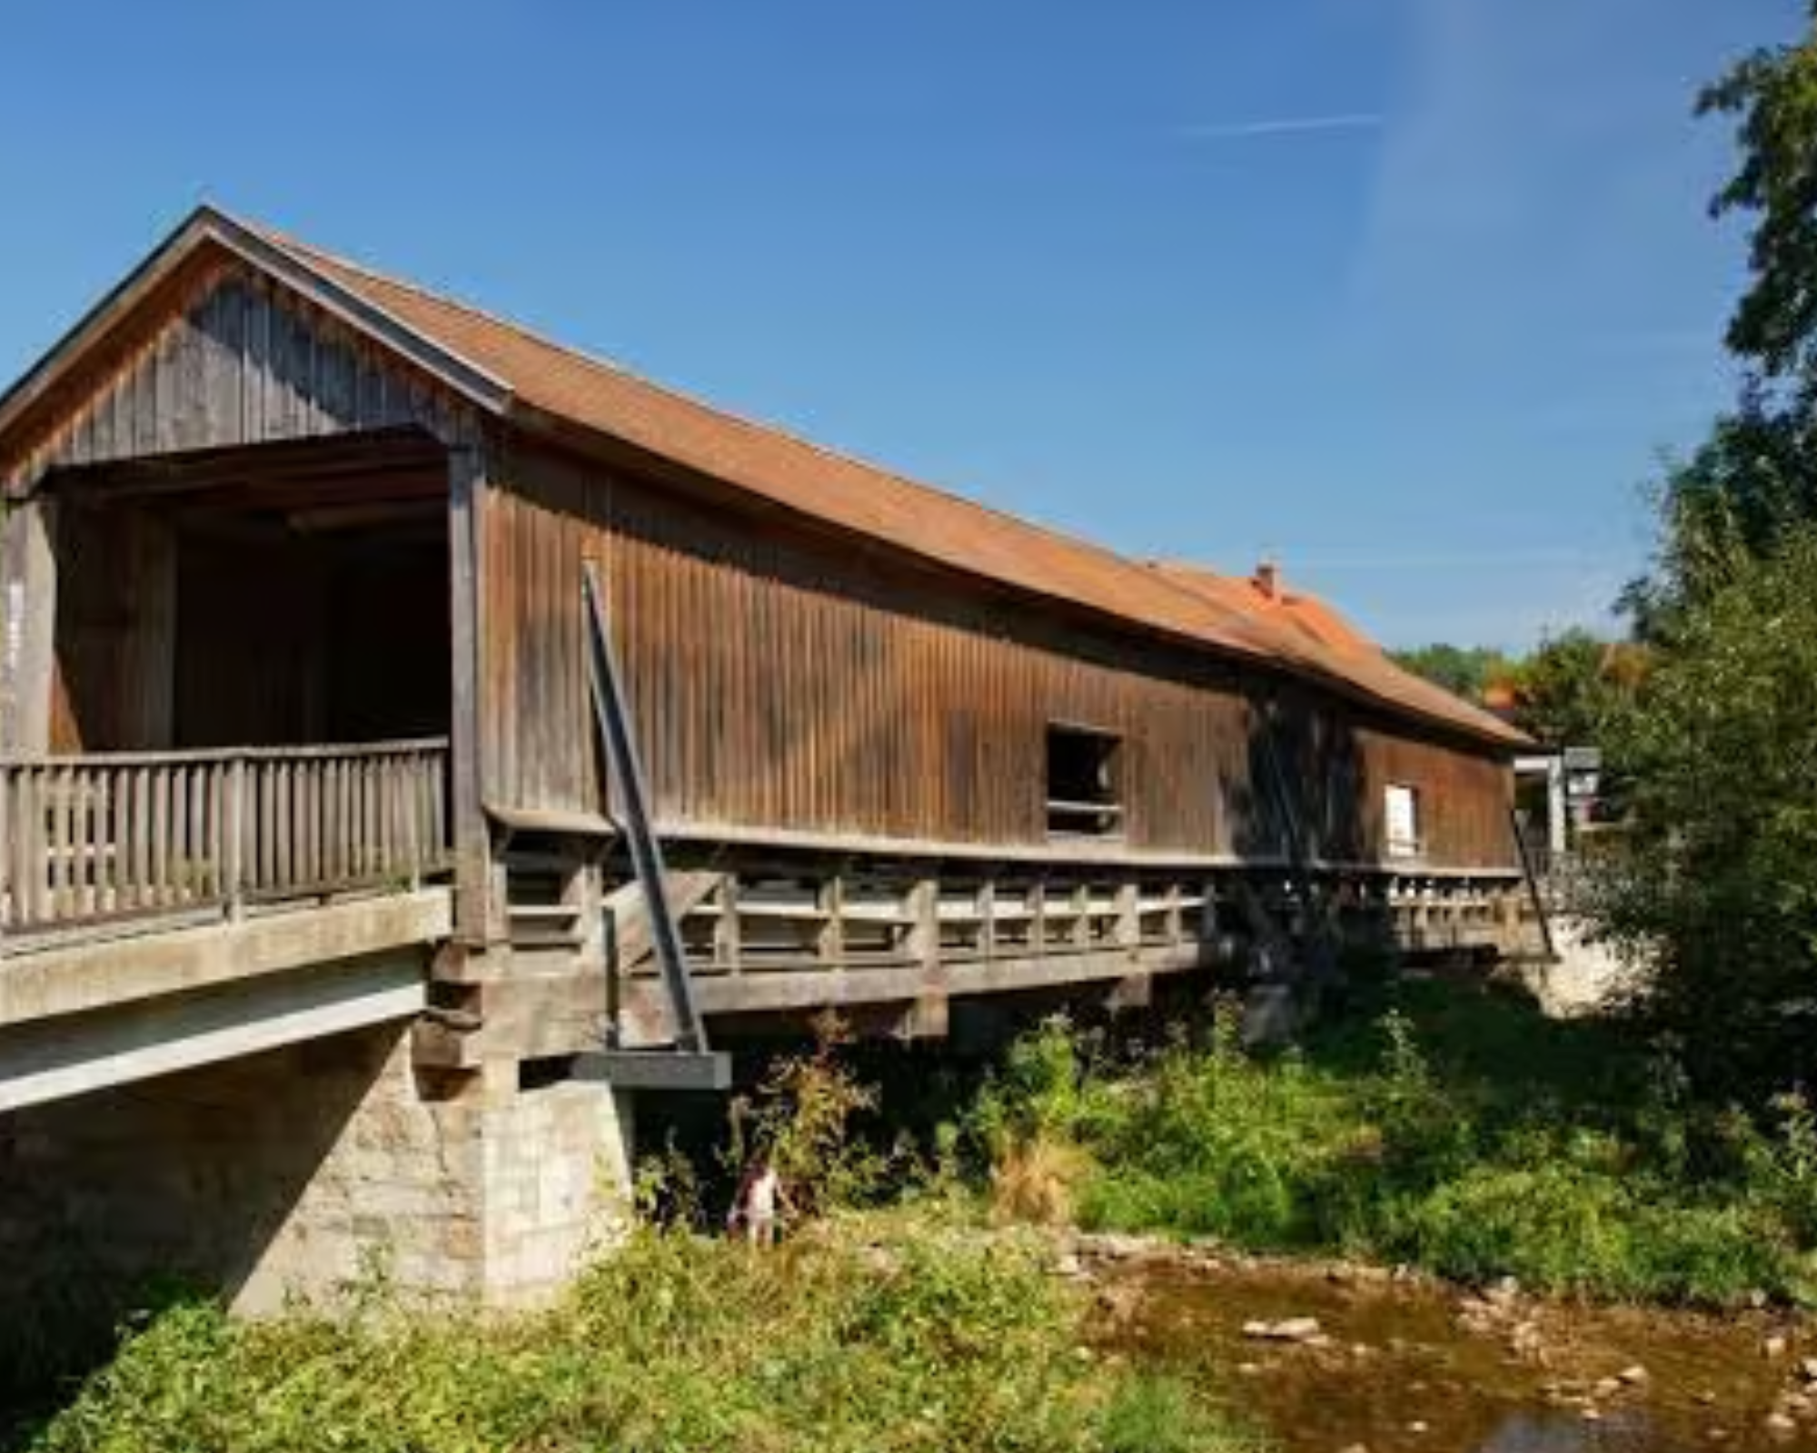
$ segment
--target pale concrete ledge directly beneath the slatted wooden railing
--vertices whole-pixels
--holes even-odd
[[[0,959],[0,1028],[356,959],[452,934],[447,888]]]

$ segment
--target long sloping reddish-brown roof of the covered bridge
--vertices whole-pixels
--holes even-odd
[[[294,238],[258,227],[247,231],[498,378],[512,390],[514,403],[534,412],[623,440],[778,505],[974,576],[1079,601],[1168,636],[1325,677],[1385,707],[1503,746],[1524,741],[1488,712],[1403,672],[1308,596],[1270,601],[1246,581],[1125,559],[723,412]]]

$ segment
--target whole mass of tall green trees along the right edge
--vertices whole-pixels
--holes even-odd
[[[1735,122],[1712,211],[1750,225],[1737,407],[1672,467],[1626,596],[1646,670],[1606,725],[1630,852],[1592,912],[1697,1099],[1802,1082],[1817,1004],[1817,11],[1699,100]]]

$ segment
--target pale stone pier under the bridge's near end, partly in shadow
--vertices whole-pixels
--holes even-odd
[[[0,1311],[145,1277],[254,1315],[380,1279],[549,1299],[623,1226],[625,1101],[427,1079],[400,1023],[0,1115]]]

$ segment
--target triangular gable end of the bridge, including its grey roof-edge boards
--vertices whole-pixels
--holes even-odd
[[[213,209],[0,398],[0,487],[58,465],[416,425],[472,443],[511,390]]]

